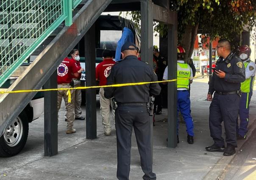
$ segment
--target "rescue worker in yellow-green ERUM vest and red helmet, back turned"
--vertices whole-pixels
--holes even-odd
[[[190,115],[190,99],[189,99],[189,84],[192,83],[193,71],[190,66],[184,62],[185,49],[181,46],[177,47],[177,143],[179,143],[178,124],[181,112],[184,121],[186,122],[187,142],[194,143],[194,124]],[[184,79],[187,78],[187,79]],[[189,79],[190,78],[190,79]],[[165,68],[163,80],[168,79],[168,66]],[[163,84],[166,84],[164,82]]]

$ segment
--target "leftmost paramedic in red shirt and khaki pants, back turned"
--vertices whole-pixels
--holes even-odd
[[[58,66],[57,69],[57,83],[58,88],[70,88],[72,76],[75,76],[78,78],[78,66],[75,64],[75,60],[65,58],[62,63]],[[61,108],[61,101],[62,98],[64,98],[65,101],[65,108],[67,111],[67,131],[66,134],[72,134],[75,133],[75,129],[73,129],[73,122],[75,120],[75,114],[74,114],[74,90],[70,90],[71,93],[71,102],[68,103],[68,90],[58,90],[58,111]]]

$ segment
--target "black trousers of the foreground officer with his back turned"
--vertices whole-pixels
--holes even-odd
[[[131,163],[131,133],[134,127],[144,180],[156,180],[152,172],[150,118],[146,106],[121,106],[115,111],[117,133],[117,178],[128,180]]]

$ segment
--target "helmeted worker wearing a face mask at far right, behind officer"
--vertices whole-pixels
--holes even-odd
[[[237,121],[237,139],[246,139],[249,121],[249,104],[253,95],[253,84],[255,78],[255,63],[250,60],[251,49],[247,45],[238,48],[239,57],[245,65],[245,81],[241,83],[242,96],[239,104],[240,126]]]

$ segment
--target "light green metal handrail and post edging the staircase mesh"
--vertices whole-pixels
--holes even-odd
[[[81,3],[81,1],[82,0],[62,0],[62,15],[59,16],[32,45],[9,66],[9,68],[3,71],[3,74],[0,75],[0,86],[4,84],[24,60],[26,60],[63,21],[65,21],[65,26],[72,25],[72,9]]]

